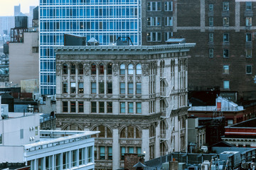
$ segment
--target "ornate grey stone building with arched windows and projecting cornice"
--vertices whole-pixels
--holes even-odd
[[[56,122],[99,130],[95,169],[186,151],[187,52],[196,44],[55,47]]]

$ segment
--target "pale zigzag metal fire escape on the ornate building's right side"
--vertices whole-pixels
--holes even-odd
[[[162,70],[163,71],[163,70]],[[171,75],[171,74],[167,74]],[[163,72],[160,75],[160,97],[161,97],[161,143],[165,145],[165,149],[161,151],[161,155],[168,154],[174,150],[174,140],[171,137],[172,132],[174,131],[174,118],[170,118],[171,111],[174,108],[174,96],[171,96],[171,91],[174,89],[173,79],[169,81],[164,77]]]

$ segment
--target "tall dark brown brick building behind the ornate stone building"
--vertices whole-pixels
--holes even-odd
[[[189,91],[220,90],[233,101],[253,98],[256,2],[147,0],[142,6],[143,45],[164,44],[171,35],[196,42],[188,60]]]

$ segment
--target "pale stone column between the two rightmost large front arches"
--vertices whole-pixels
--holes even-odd
[[[119,169],[119,137],[118,137],[118,129],[113,129],[113,144],[112,144],[112,155],[113,155],[113,162],[112,162],[112,169]]]

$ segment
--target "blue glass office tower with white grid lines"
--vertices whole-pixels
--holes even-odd
[[[141,45],[140,0],[40,0],[39,13],[41,94],[55,94],[53,47],[64,44],[64,33],[93,37],[100,45],[118,37]]]

